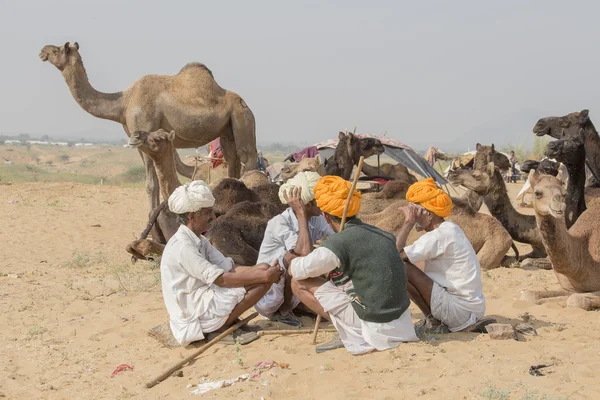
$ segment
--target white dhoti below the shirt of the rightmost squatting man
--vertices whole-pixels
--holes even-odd
[[[458,298],[446,288],[433,282],[431,290],[431,315],[446,324],[451,332],[462,331],[475,324],[483,317],[484,312],[473,312],[461,307]]]

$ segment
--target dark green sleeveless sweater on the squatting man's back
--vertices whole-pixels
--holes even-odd
[[[330,272],[333,283],[352,281],[345,290],[360,319],[390,322],[406,311],[410,305],[406,268],[393,235],[354,218],[321,246],[340,259],[340,267]]]

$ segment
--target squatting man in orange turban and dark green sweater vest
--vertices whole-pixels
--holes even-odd
[[[314,312],[333,322],[339,338],[317,352],[345,346],[352,354],[386,350],[417,341],[408,306],[406,273],[393,235],[363,224],[355,215],[360,193],[354,191],[348,219],[340,232],[350,182],[325,176],[315,186],[317,205],[331,235],[305,257],[288,253],[292,291]],[[299,235],[307,234],[306,225]],[[329,280],[322,278],[329,274]],[[340,341],[341,340],[341,341]]]

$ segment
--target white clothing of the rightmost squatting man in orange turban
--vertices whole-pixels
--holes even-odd
[[[458,225],[445,221],[404,248],[413,264],[424,261],[435,282],[432,315],[451,331],[460,331],[485,313],[481,268],[473,246]]]

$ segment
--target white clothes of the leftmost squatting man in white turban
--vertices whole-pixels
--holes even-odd
[[[185,225],[167,243],[160,263],[162,291],[171,331],[182,345],[204,339],[219,329],[246,293],[242,288],[220,288],[214,281],[231,271],[233,260],[204,236]]]

